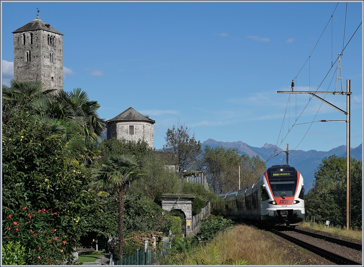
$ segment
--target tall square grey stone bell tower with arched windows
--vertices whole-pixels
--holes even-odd
[[[39,11],[38,11],[39,12]],[[63,34],[37,18],[12,32],[14,79],[63,89]]]

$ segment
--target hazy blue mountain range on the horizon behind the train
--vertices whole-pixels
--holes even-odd
[[[273,144],[265,143],[262,147],[252,147],[246,143],[241,141],[238,142],[219,142],[214,139],[207,139],[202,143],[202,148],[206,145],[210,147],[222,146],[224,148],[238,148],[241,154],[252,156],[259,156],[260,159],[266,161],[265,164],[267,167],[272,165],[281,165],[286,164],[286,153],[273,152],[276,151],[285,151],[286,149],[279,148]],[[351,157],[356,158],[357,160],[361,160],[361,147],[362,144],[357,146],[356,148],[351,148]],[[338,157],[346,158],[346,146],[339,146],[333,148],[330,151],[316,151],[316,150],[288,150],[288,164],[290,166],[295,167],[304,178],[306,191],[312,187],[312,183],[314,181],[314,172],[317,170],[317,167],[322,163],[322,160],[325,157],[329,157],[332,155],[336,155]],[[270,157],[273,154],[272,157]],[[277,155],[278,154],[278,155]],[[277,155],[277,156],[274,156]]]

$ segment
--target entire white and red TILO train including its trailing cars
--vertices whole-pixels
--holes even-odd
[[[268,226],[300,225],[305,218],[304,183],[294,167],[269,167],[252,185],[220,194],[212,206],[213,214]]]

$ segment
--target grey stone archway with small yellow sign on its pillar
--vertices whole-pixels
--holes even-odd
[[[192,229],[192,201],[195,199],[193,195],[186,194],[162,194],[162,209],[171,211],[179,209],[186,216],[186,236],[193,235]]]

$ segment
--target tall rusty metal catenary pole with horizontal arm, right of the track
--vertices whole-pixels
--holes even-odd
[[[341,68],[340,68],[340,73],[341,73]],[[344,92],[344,91],[335,91],[335,92],[277,91],[277,93],[310,94],[346,115],[346,229],[349,230],[351,227],[351,223],[350,223],[350,203],[351,203],[351,200],[350,200],[350,95],[352,94],[352,92],[350,91],[350,80],[346,80],[346,86],[347,86],[347,90],[346,90],[347,92]],[[341,94],[341,95],[346,94],[347,111],[346,112],[343,111],[342,109],[336,107],[335,105],[333,105],[330,102],[324,100],[323,98],[317,96],[316,94],[334,94],[334,95],[335,94]],[[323,120],[323,121],[325,121],[325,120]],[[284,151],[277,151],[277,152],[284,152]],[[288,144],[287,144],[287,152],[288,152]],[[287,154],[287,160],[288,160],[288,154]]]

